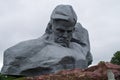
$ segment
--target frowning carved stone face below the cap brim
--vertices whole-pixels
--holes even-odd
[[[69,43],[74,30],[74,24],[66,20],[53,20],[52,30],[54,42],[64,47],[69,47]]]

